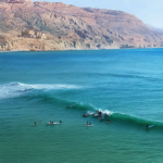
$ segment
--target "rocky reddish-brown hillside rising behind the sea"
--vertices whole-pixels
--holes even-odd
[[[0,50],[163,46],[163,35],[122,11],[30,0],[0,1]]]

